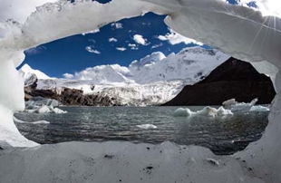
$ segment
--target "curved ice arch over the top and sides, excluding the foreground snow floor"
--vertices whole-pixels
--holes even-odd
[[[130,8],[124,8],[127,5]],[[280,19],[218,0],[113,0],[106,5],[92,0],[60,1],[37,8],[24,24],[0,24],[0,140],[12,146],[36,145],[24,139],[13,122],[14,111],[24,108],[23,81],[15,71],[24,60],[24,50],[149,11],[168,14],[165,22],[175,31],[252,62],[271,76],[277,94],[266,132],[234,157],[245,159],[254,169],[253,176],[277,183],[281,179]]]

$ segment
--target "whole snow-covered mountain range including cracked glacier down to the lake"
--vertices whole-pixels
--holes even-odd
[[[37,89],[79,89],[84,94],[108,95],[121,105],[151,105],[170,101],[185,85],[199,82],[228,58],[216,50],[191,47],[167,57],[160,52],[151,53],[129,67],[100,65],[64,74],[68,79],[51,79],[26,64],[20,71],[24,76],[30,72],[38,74]]]

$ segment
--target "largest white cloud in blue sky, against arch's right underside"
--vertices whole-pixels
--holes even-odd
[[[160,39],[161,41],[168,41],[172,45],[178,44],[178,43],[185,43],[185,44],[196,43],[196,44],[199,44],[199,45],[203,45],[203,43],[197,42],[194,39],[190,39],[190,38],[185,37],[181,34],[178,34],[171,29],[170,29],[170,33],[168,33],[166,35],[159,35],[158,39]]]

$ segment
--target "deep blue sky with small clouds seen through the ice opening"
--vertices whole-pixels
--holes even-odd
[[[168,55],[196,45],[187,41],[177,43],[181,38],[170,33],[169,27],[163,22],[164,18],[164,15],[149,13],[107,24],[97,33],[78,34],[45,43],[26,51],[24,63],[51,77],[63,77],[65,72],[79,72],[101,64],[128,66],[133,60],[140,60],[153,52],[160,51]]]

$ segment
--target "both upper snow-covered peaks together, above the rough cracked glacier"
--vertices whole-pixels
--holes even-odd
[[[149,84],[171,80],[194,83],[228,58],[228,55],[216,50],[189,47],[177,54],[171,53],[168,57],[160,52],[151,53],[140,61],[133,61],[129,67],[118,64],[101,65],[64,75],[77,80],[92,80],[96,84],[111,82]]]

